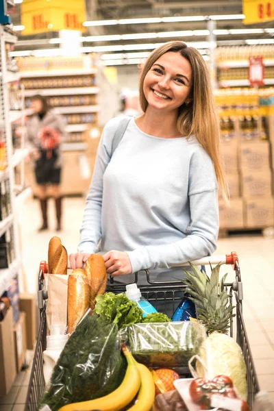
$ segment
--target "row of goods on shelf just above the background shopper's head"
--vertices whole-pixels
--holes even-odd
[[[66,87],[89,87],[95,86],[94,75],[73,75],[64,77],[42,77],[32,79],[22,79],[26,90],[43,88],[66,88]]]

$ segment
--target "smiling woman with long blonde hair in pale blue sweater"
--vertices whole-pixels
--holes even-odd
[[[121,117],[103,130],[71,268],[101,253],[119,282],[149,269],[154,280],[183,277],[170,267],[210,256],[219,231],[217,182],[226,186],[219,120],[199,51],[173,41],[155,49],[140,77],[144,112],[130,119],[112,154]],[[140,276],[139,276],[140,277]]]

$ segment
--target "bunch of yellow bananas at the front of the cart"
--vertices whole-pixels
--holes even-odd
[[[119,411],[129,404],[138,393],[136,403],[128,411],[149,411],[155,398],[153,377],[145,365],[136,362],[132,353],[123,347],[127,359],[127,371],[122,384],[105,397],[68,404],[59,411]]]

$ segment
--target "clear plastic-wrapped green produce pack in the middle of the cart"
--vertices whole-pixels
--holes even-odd
[[[206,339],[206,329],[197,321],[140,323],[120,332],[134,358],[148,366],[188,366]]]

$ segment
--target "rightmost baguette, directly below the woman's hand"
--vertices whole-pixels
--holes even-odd
[[[107,271],[105,262],[100,254],[90,254],[85,266],[86,275],[90,280],[90,308],[95,308],[95,298],[105,292]]]

